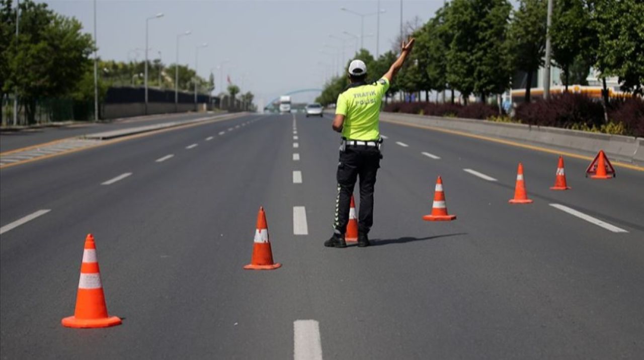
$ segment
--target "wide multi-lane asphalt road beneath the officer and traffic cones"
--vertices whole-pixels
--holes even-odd
[[[573,189],[551,191],[554,155],[382,124],[374,246],[327,249],[339,137],[296,118],[296,134],[293,115],[249,115],[0,171],[2,227],[50,210],[1,235],[1,357],[641,359],[644,172],[591,180],[566,158]],[[519,161],[533,204],[507,203]],[[438,175],[453,222],[421,220]],[[260,205],[277,270],[242,269]],[[117,327],[60,324],[88,232]]]

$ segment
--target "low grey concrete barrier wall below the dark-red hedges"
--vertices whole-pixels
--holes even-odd
[[[644,164],[644,139],[589,133],[570,129],[511,124],[466,118],[444,118],[401,113],[381,113],[383,121],[404,122],[436,128],[463,131],[509,140],[520,140],[569,149],[583,155],[594,155],[603,149],[611,158]]]

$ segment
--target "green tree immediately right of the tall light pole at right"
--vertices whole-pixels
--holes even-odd
[[[591,14],[585,7],[584,0],[556,0],[550,33],[553,61],[562,69],[562,82],[565,91],[568,91],[569,84],[578,83],[571,82],[571,67],[584,50],[591,46],[594,37]],[[580,61],[577,65],[580,65]],[[580,70],[579,67],[576,70]],[[584,75],[584,79],[587,75],[588,73]]]

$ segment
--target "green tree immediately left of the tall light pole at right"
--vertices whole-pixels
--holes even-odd
[[[533,74],[544,64],[546,15],[545,0],[520,0],[509,28],[507,45],[512,67],[527,74],[526,102],[530,101]]]

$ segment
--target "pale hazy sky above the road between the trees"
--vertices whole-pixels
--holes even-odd
[[[60,14],[73,16],[93,32],[92,0],[44,1]],[[443,0],[404,0],[403,20],[415,16],[429,19]],[[363,14],[377,12],[376,0],[362,1],[195,1],[195,0],[99,0],[97,3],[97,39],[99,57],[128,61],[137,56],[144,59],[146,17],[162,12],[164,17],[149,21],[150,59],[159,57],[165,64],[175,62],[176,35],[191,30],[180,40],[179,62],[194,68],[195,48],[199,50],[198,73],[207,77],[222,61],[223,86],[225,77],[256,94],[266,104],[287,91],[321,88],[336,62],[336,50],[342,41],[329,37],[331,33],[348,39],[345,42],[345,61],[354,53],[355,41],[343,31],[360,34],[357,15],[341,11],[346,7]],[[380,52],[392,48],[399,32],[400,1],[381,0]],[[375,53],[376,16],[365,17],[365,48]],[[372,37],[367,34],[374,33]],[[332,55],[321,53],[320,50]],[[323,62],[325,65],[319,64]],[[339,66],[338,66],[339,70]],[[220,88],[219,71],[213,69],[216,92]],[[294,97],[308,101],[316,93]]]

